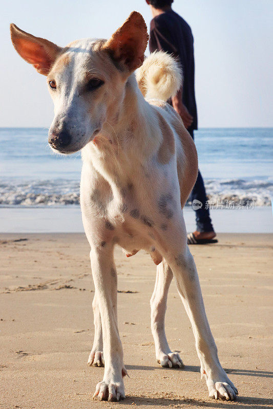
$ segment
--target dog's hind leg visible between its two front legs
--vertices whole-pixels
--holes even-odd
[[[173,273],[163,260],[156,270],[156,283],[151,298],[151,328],[155,341],[156,360],[161,367],[183,368],[179,354],[172,352],[167,343],[165,334],[165,312],[167,308],[167,295]]]

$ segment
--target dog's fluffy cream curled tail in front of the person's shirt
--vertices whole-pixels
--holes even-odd
[[[167,101],[182,84],[182,70],[170,54],[155,51],[145,58],[136,79],[145,98]]]

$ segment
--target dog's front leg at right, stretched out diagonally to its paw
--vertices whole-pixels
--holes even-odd
[[[163,238],[162,255],[170,265],[177,289],[191,320],[201,376],[206,379],[209,396],[235,400],[238,394],[219,362],[217,347],[207,321],[200,283],[193,256],[186,244],[183,216],[172,222],[169,235]]]

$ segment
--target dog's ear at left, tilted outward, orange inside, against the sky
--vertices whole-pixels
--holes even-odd
[[[61,48],[51,41],[20,30],[15,24],[10,25],[10,34],[17,53],[32,64],[38,73],[48,75]]]

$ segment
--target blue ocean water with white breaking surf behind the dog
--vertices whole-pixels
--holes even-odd
[[[0,206],[55,207],[79,203],[80,153],[60,156],[46,128],[0,128]],[[199,168],[211,201],[270,206],[273,128],[200,129]]]

